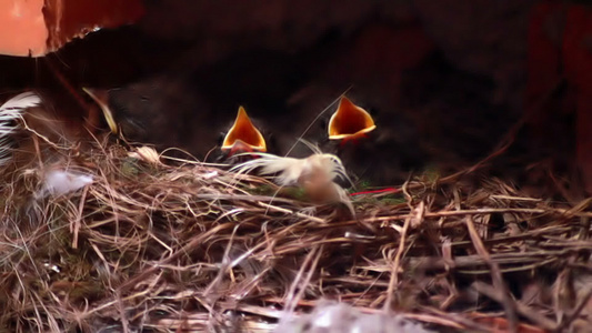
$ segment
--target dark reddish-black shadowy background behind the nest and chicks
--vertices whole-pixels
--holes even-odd
[[[44,58],[2,57],[0,92],[8,99],[36,89],[57,117],[83,119],[92,102],[80,88],[109,91],[128,139],[199,159],[242,104],[272,152],[288,152],[303,135],[383,185],[409,171],[466,168],[513,140],[490,175],[592,191],[592,14],[584,2],[143,4],[133,26],[90,33]],[[313,120],[344,91],[378,128],[343,150],[323,137],[333,109]]]

